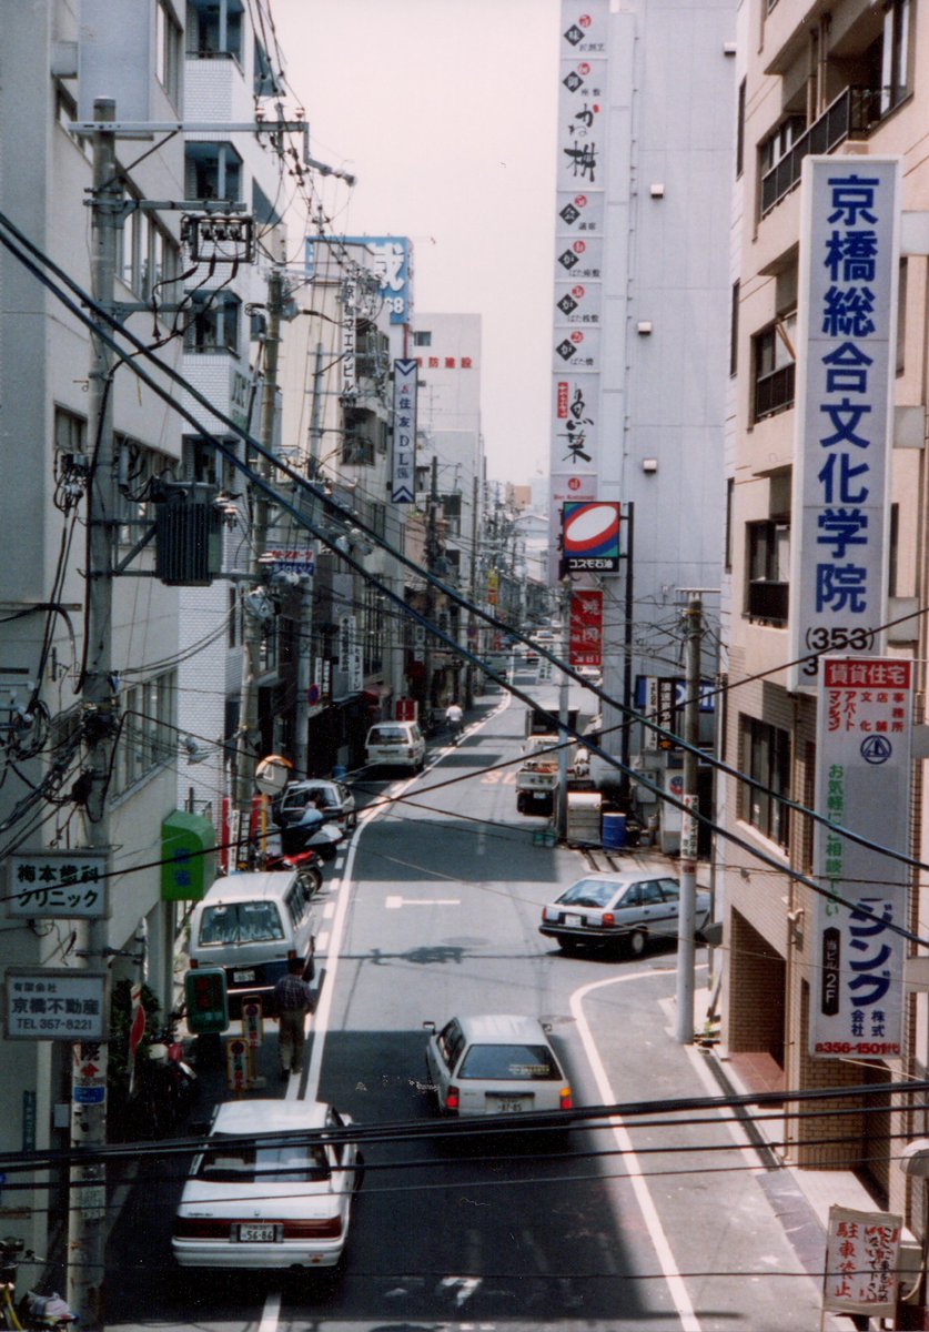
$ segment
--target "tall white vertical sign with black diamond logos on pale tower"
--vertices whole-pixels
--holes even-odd
[[[550,513],[592,500],[599,472],[608,0],[563,0],[552,294]],[[556,519],[551,574],[558,577]]]

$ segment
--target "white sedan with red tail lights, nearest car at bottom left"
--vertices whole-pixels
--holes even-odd
[[[334,1267],[361,1183],[361,1155],[345,1138],[350,1127],[322,1102],[218,1106],[174,1217],[180,1265]]]

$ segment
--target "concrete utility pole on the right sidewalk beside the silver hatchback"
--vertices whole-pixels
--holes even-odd
[[[693,1040],[693,959],[696,943],[697,745],[700,742],[700,645],[703,602],[691,591],[684,619],[684,805],[680,827],[680,916],[677,920],[677,1042]]]

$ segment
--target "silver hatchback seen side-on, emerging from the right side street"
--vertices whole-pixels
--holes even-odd
[[[558,939],[562,952],[624,947],[639,956],[650,939],[676,938],[679,912],[677,879],[640,870],[587,874],[543,907],[539,932]],[[709,894],[697,890],[696,928],[708,919]]]

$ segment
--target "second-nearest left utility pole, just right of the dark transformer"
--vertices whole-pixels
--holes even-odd
[[[277,398],[277,362],[281,345],[281,309],[283,305],[283,276],[279,268],[268,274],[268,332],[265,333],[265,389],[261,400],[260,438],[265,449],[274,445],[274,406]],[[262,454],[256,460],[256,470],[262,481],[270,481],[272,465]],[[265,565],[261,557],[268,545],[269,503],[264,490],[252,492],[252,561],[253,585],[262,585]],[[258,746],[258,677],[261,674],[262,621],[256,614],[245,615],[242,646],[242,689],[238,706],[238,734],[236,738],[236,807],[241,829],[248,830],[254,793],[254,770]],[[240,836],[241,836],[240,831]]]

